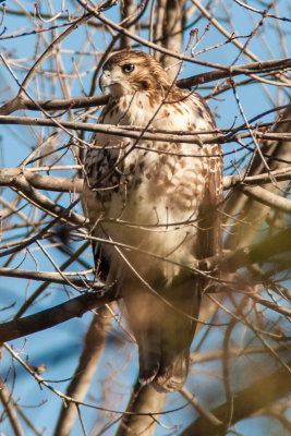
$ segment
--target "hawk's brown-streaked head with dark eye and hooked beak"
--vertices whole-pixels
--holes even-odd
[[[100,88],[109,88],[113,97],[135,92],[168,89],[169,76],[158,61],[144,51],[123,50],[104,64]]]

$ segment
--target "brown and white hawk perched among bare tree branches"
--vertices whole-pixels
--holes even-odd
[[[95,263],[135,336],[140,380],[174,391],[187,376],[206,286],[191,267],[220,250],[222,158],[217,144],[149,141],[146,131],[204,132],[215,121],[202,97],[143,51],[111,56],[100,87],[111,97],[99,123],[140,128],[140,137],[96,134],[87,150],[83,207],[98,238]]]

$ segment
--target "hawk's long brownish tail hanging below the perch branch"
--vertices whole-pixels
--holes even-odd
[[[193,280],[193,277],[173,282],[163,294],[172,307],[160,303],[158,320],[148,324],[143,341],[138,340],[140,379],[159,392],[180,390],[187,377],[190,347],[196,327],[191,316],[198,316],[201,286],[201,280]]]

